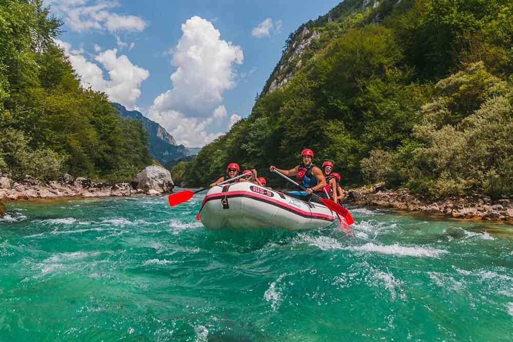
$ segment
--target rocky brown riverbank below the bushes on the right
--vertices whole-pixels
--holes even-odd
[[[376,184],[371,189],[348,190],[345,200],[346,203],[361,206],[392,208],[452,218],[513,223],[513,200],[507,198],[492,200],[489,196],[482,194],[429,201],[410,194],[408,189],[388,190],[383,184]]]

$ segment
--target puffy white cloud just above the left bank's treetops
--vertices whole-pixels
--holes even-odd
[[[141,83],[150,75],[148,70],[133,65],[126,55],[117,55],[117,49],[101,51],[94,59],[100,63],[109,74],[109,79],[103,77],[103,71],[98,64],[89,62],[81,51],[73,50],[66,42],[55,40],[68,55],[73,69],[80,75],[81,84],[85,88],[91,87],[95,91],[105,92],[111,101],[119,102],[127,108],[135,107],[135,101],[141,96]]]

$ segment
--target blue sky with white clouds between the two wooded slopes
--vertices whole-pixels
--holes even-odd
[[[338,0],[47,0],[84,86],[201,147],[251,112],[285,39]],[[171,76],[173,75],[173,76]]]

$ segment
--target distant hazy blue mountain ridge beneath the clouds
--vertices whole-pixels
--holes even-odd
[[[188,148],[184,145],[176,145],[176,140],[164,127],[150,120],[141,114],[141,112],[128,110],[125,106],[115,102],[111,102],[111,105],[122,117],[133,118],[143,122],[144,128],[148,131],[150,153],[152,157],[162,165],[167,165],[174,160],[198,154],[198,151],[201,149],[196,147]]]

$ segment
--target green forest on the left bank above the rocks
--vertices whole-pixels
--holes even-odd
[[[122,181],[151,164],[142,123],[84,89],[40,0],[0,0],[0,170],[14,179]]]

